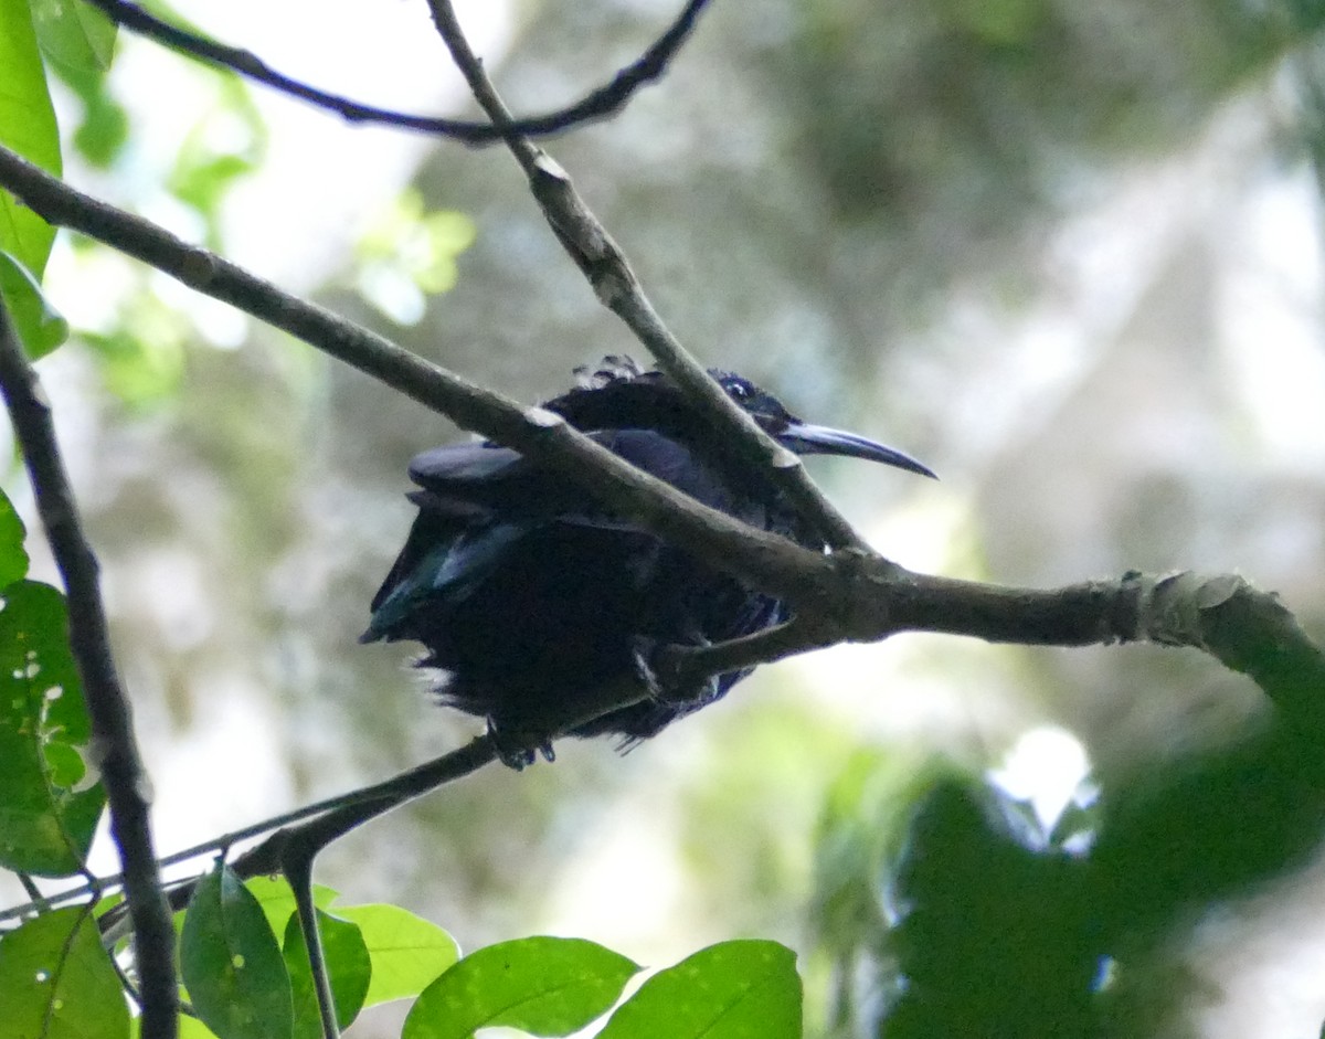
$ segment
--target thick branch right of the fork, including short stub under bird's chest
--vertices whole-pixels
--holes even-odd
[[[1147,641],[1200,649],[1251,677],[1302,734],[1325,736],[1325,652],[1273,592],[1234,574],[1141,574],[1061,588],[1010,588],[914,574],[877,555],[839,553],[839,582],[786,624],[708,647],[672,645],[653,661],[670,681],[767,664],[840,641],[905,631],[1019,645]]]

